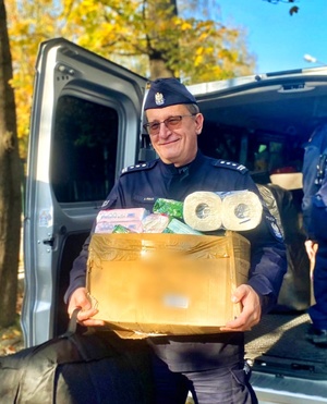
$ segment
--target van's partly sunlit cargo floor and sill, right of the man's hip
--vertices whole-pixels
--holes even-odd
[[[245,333],[245,357],[253,369],[313,380],[327,380],[327,346],[305,339],[305,313],[269,314]]]

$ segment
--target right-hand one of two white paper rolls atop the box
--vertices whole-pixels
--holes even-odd
[[[222,227],[227,230],[251,230],[262,220],[263,206],[252,191],[235,191],[222,196]]]

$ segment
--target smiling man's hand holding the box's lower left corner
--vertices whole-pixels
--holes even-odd
[[[105,321],[102,320],[92,319],[92,317],[98,314],[99,310],[96,307],[92,307],[92,302],[86,287],[78,287],[72,293],[68,306],[70,317],[77,307],[81,307],[81,311],[77,315],[77,321],[82,326],[93,327],[105,325]]]

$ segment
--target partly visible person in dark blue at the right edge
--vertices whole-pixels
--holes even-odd
[[[327,346],[327,232],[326,232],[327,124],[318,126],[305,145],[303,160],[303,227],[311,260],[315,303],[310,307],[312,325],[305,338]],[[317,195],[317,198],[315,197]]]

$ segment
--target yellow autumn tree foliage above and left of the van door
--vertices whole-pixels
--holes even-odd
[[[5,0],[21,157],[40,41],[65,37],[149,78],[175,75],[194,84],[251,74],[255,58],[244,29],[208,17],[218,2],[207,9],[205,0]]]

